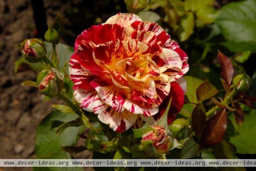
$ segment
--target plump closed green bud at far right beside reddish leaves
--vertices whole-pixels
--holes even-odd
[[[243,73],[240,75],[236,75],[236,77],[233,79],[233,84],[237,90],[242,92],[247,91],[250,88],[250,86],[252,85],[252,81],[248,75]]]

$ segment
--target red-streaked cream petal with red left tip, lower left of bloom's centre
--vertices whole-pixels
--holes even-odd
[[[98,93],[99,98],[104,101],[106,104],[110,105],[117,112],[123,112],[125,110],[124,107],[117,100],[117,92],[113,85],[103,87],[99,85],[96,81],[90,82],[91,86],[95,88]]]

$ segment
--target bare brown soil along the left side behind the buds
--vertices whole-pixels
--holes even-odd
[[[45,1],[48,23],[65,6]],[[36,72],[15,74],[14,62],[20,58],[15,45],[34,37],[35,23],[30,0],[0,0],[0,159],[28,159],[35,156],[35,131],[39,122],[58,99],[42,102],[35,87],[21,86],[35,80]],[[62,41],[63,42],[63,41]],[[82,142],[80,142],[82,143]],[[76,158],[90,158],[87,151]],[[0,168],[0,171],[31,171],[32,168]],[[92,170],[87,168],[86,170]]]

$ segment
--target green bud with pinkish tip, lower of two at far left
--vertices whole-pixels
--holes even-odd
[[[63,76],[56,69],[43,70],[38,74],[38,89],[46,96],[56,96],[63,87]]]

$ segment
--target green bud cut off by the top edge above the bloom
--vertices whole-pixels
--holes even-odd
[[[151,0],[125,0],[126,7],[131,13],[138,13],[145,9]]]

